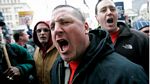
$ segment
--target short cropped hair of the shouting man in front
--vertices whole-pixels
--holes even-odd
[[[56,9],[59,8],[63,8],[63,7],[68,7],[68,8],[72,8],[74,10],[74,16],[77,16],[78,19],[80,19],[82,22],[85,22],[85,17],[83,16],[83,14],[81,13],[81,11],[73,6],[70,5],[58,5],[56,6],[53,11],[55,11]]]

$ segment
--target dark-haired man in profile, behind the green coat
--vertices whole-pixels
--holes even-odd
[[[13,34],[14,40],[18,45],[23,46],[27,49],[27,51],[33,56],[34,47],[28,44],[29,35],[25,32],[25,30],[17,30]]]

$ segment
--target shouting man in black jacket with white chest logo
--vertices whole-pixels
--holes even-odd
[[[99,0],[95,7],[95,14],[101,29],[110,33],[115,50],[141,65],[149,75],[148,37],[139,31],[129,29],[123,22],[117,22],[118,14],[112,0]]]

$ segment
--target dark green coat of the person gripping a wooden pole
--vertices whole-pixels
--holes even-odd
[[[0,81],[4,84],[27,84],[29,75],[34,67],[33,57],[27,52],[25,48],[17,44],[7,44],[7,53],[12,66],[19,68],[21,76],[16,80],[9,81],[3,75],[3,72],[8,68],[3,54],[2,48],[0,48]],[[2,84],[2,83],[1,83]]]

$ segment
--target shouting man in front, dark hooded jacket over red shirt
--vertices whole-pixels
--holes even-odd
[[[51,35],[60,58],[51,84],[148,84],[143,68],[116,53],[109,34],[91,30],[82,13],[69,5],[54,8]]]

